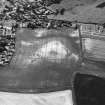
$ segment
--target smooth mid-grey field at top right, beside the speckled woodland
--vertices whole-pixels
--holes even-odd
[[[49,16],[49,18],[63,19],[69,21],[80,21],[86,23],[104,23],[105,8],[97,8],[104,0],[63,0],[61,4],[52,5],[50,8],[65,8],[64,15]]]

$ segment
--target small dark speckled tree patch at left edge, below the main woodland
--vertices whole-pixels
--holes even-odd
[[[15,53],[15,37],[0,36],[0,66],[8,65]]]

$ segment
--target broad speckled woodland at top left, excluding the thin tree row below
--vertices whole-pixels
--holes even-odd
[[[1,11],[0,19],[13,19],[17,22],[33,21],[38,18],[46,18],[48,15],[56,14],[48,8],[49,5],[56,3],[56,0],[7,0],[9,5],[5,5]],[[58,3],[58,2],[57,2]]]

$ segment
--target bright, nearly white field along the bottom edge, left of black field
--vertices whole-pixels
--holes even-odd
[[[0,92],[1,105],[73,105],[70,90],[44,94]]]

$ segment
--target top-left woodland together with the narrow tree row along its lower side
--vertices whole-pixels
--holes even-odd
[[[57,28],[62,26],[70,26],[70,22],[64,20],[51,20],[48,15],[57,15],[59,10],[51,10],[48,6],[59,4],[62,0],[7,0],[8,5],[5,5],[1,11],[0,19],[2,22],[15,20],[13,28],[19,27],[22,23],[26,24],[27,28]],[[61,11],[63,14],[64,9]],[[22,26],[22,25],[20,25]]]

